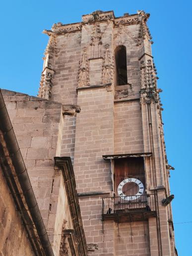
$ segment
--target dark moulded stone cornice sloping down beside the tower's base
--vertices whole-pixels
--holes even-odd
[[[70,157],[54,157],[55,164],[62,170],[74,234],[78,237],[79,256],[87,256],[87,246],[81,219],[78,195]]]

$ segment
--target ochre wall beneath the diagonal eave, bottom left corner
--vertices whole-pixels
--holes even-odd
[[[34,253],[0,167],[0,256],[8,255]]]

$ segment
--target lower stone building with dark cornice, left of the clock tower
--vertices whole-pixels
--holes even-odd
[[[87,255],[71,160],[61,157],[64,117],[79,107],[7,90],[2,94],[53,254]]]

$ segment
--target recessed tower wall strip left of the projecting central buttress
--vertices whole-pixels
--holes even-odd
[[[53,101],[63,104],[77,104],[77,80],[80,60],[81,33],[61,35],[56,38],[58,54],[55,57],[56,70],[53,76],[52,96]],[[74,158],[76,117],[66,117],[61,154]]]

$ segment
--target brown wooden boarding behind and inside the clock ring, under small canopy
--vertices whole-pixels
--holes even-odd
[[[118,195],[117,189],[119,184],[127,179],[135,178],[142,182],[145,189],[145,172],[143,157],[129,157],[122,159],[115,159],[115,194]],[[123,192],[126,195],[134,195],[138,192],[138,186],[129,182],[123,187]]]

